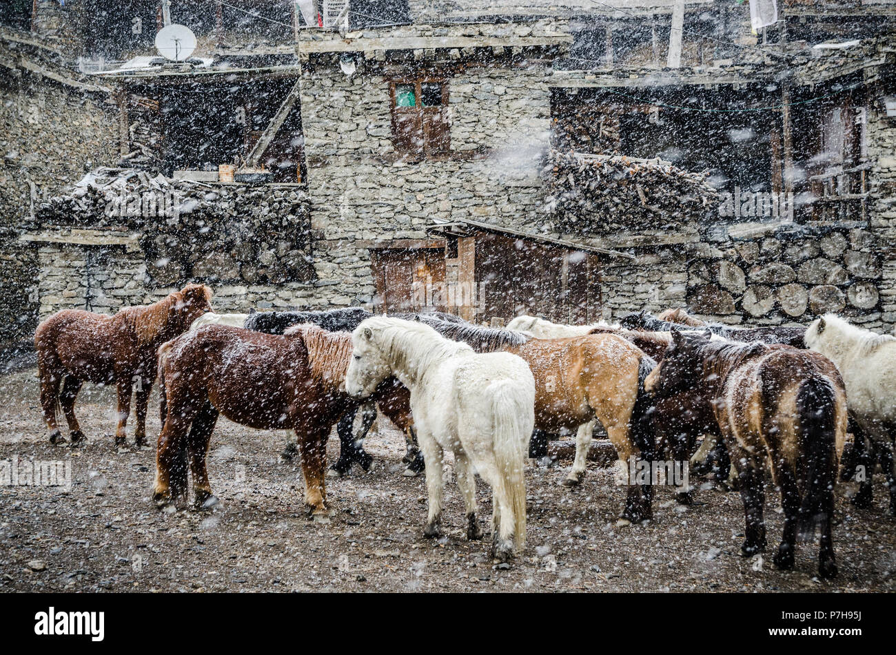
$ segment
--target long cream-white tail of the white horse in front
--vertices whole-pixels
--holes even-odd
[[[489,386],[492,396],[493,449],[498,475],[513,509],[516,549],[526,543],[526,480],[524,469],[532,426],[526,416],[532,415],[532,400],[521,397],[517,381],[499,380]],[[497,527],[495,526],[495,530]]]

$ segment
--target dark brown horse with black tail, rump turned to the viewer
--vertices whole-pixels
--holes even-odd
[[[831,539],[837,465],[846,437],[846,390],[840,373],[818,353],[786,345],[720,344],[673,332],[662,362],[644,388],[674,397],[701,388],[740,478],[746,557],[765,548],[764,472],[781,489],[784,534],[775,564],[793,567],[797,531],[821,528],[818,572],[837,574]]]

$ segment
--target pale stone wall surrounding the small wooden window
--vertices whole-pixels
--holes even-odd
[[[386,73],[362,63],[347,77],[335,61],[306,71],[302,124],[317,277],[369,302],[376,242],[422,238],[436,218],[537,223],[547,72],[509,56],[457,72],[448,81],[452,156],[407,163],[392,148]]]

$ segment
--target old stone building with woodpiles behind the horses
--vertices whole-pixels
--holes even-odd
[[[220,310],[459,310],[415,291],[457,281],[472,232],[446,225],[561,249],[538,289],[504,280],[517,311],[574,284],[599,303],[567,319],[896,323],[896,2],[752,31],[722,0],[172,0],[177,64],[154,0],[27,5],[0,31],[6,344],[186,279]]]

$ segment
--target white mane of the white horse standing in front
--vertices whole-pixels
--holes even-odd
[[[375,316],[358,327],[362,326],[370,328],[374,343],[392,362],[392,368],[406,370],[414,379],[419,379],[431,362],[474,352],[470,345],[451,341],[422,321]]]

